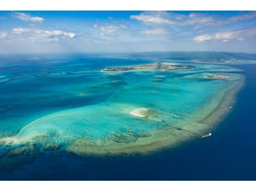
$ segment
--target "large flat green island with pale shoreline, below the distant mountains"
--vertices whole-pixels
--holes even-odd
[[[195,68],[192,65],[174,65],[171,63],[156,62],[153,64],[137,65],[137,66],[128,66],[128,67],[109,67],[105,68],[102,71],[105,72],[121,72],[129,70],[159,70],[159,71],[169,71],[169,70],[181,70]]]

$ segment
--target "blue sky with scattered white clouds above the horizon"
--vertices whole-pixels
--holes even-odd
[[[0,11],[0,54],[256,53],[256,11]]]

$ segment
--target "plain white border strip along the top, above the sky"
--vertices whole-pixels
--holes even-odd
[[[30,10],[70,10],[70,11],[97,11],[97,10],[171,10],[171,11],[232,11],[255,10],[252,0],[2,0],[0,10],[30,11]]]

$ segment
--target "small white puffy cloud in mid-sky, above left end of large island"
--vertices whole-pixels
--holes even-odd
[[[105,24],[102,26],[95,24],[93,27],[101,31],[100,36],[105,36],[105,35],[116,36],[122,33],[121,31],[122,28],[126,28],[126,26],[124,25],[114,26],[109,24]]]

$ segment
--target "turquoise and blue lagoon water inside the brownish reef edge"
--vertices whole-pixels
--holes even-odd
[[[144,140],[136,134],[146,132],[143,137],[149,137],[145,138],[149,144],[152,132],[164,128],[172,129],[168,139],[173,135],[173,140],[185,140],[191,133],[200,136],[212,123],[195,124],[215,111],[224,93],[242,80],[238,69],[220,64],[188,63],[196,68],[165,72],[101,72],[110,66],[153,62],[106,57],[1,62],[0,141],[11,147],[3,145],[0,153],[28,142],[68,146],[81,139],[105,140],[93,143],[100,148],[106,140],[133,142],[134,147]],[[204,78],[212,74],[231,78]],[[148,118],[130,114],[142,107],[150,111]],[[177,126],[182,126],[181,134]]]

